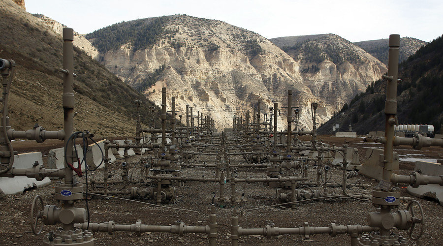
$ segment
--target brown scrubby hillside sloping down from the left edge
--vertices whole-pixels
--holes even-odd
[[[0,58],[17,63],[9,97],[11,125],[16,130],[35,123],[49,130],[62,128],[61,37],[12,0],[1,1],[0,16]],[[76,129],[98,136],[133,134],[133,100],[143,99],[144,107],[152,103],[78,48],[74,64]],[[142,118],[149,122],[150,116],[145,111]]]

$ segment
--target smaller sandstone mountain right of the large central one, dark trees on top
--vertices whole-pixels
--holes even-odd
[[[270,39],[300,63],[304,84],[336,111],[385,73],[386,66],[358,46],[335,34]],[[337,111],[338,111],[337,110]]]

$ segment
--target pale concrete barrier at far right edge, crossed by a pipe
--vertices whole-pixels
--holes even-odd
[[[443,175],[443,165],[434,162],[416,161],[414,171],[420,171],[422,174],[426,175],[440,176]],[[409,185],[407,191],[413,196],[438,199],[440,205],[443,205],[443,186],[438,184],[420,185],[417,188],[413,188]]]

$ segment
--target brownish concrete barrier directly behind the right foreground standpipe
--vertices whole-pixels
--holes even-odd
[[[380,162],[383,161],[382,158],[383,150],[376,148],[368,148],[366,149],[366,160],[363,163],[362,167],[358,171],[358,174],[369,177],[371,179],[376,179],[377,181],[381,180],[383,168],[380,166]],[[381,156],[380,156],[381,155]],[[399,169],[398,163],[398,153],[394,152],[394,170]],[[396,172],[398,174],[398,172]]]

